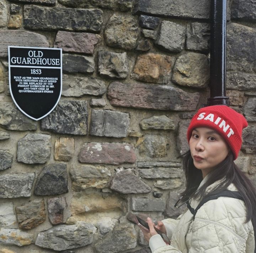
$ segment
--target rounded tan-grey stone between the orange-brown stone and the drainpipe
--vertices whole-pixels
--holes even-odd
[[[172,80],[181,86],[205,88],[210,81],[210,64],[206,55],[189,52],[175,62]]]

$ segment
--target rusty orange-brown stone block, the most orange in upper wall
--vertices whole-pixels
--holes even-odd
[[[168,83],[174,57],[160,54],[139,55],[133,68],[133,78],[152,83]]]

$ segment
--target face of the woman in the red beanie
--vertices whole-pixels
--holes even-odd
[[[229,146],[223,137],[211,128],[195,128],[192,131],[189,145],[194,165],[202,170],[203,178],[229,153]]]

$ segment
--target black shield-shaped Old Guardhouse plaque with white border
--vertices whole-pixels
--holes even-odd
[[[9,85],[15,105],[34,120],[57,106],[62,92],[62,49],[9,46]]]

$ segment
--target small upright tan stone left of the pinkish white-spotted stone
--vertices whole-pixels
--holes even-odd
[[[54,159],[68,162],[74,155],[74,139],[70,137],[60,137],[55,141]]]

